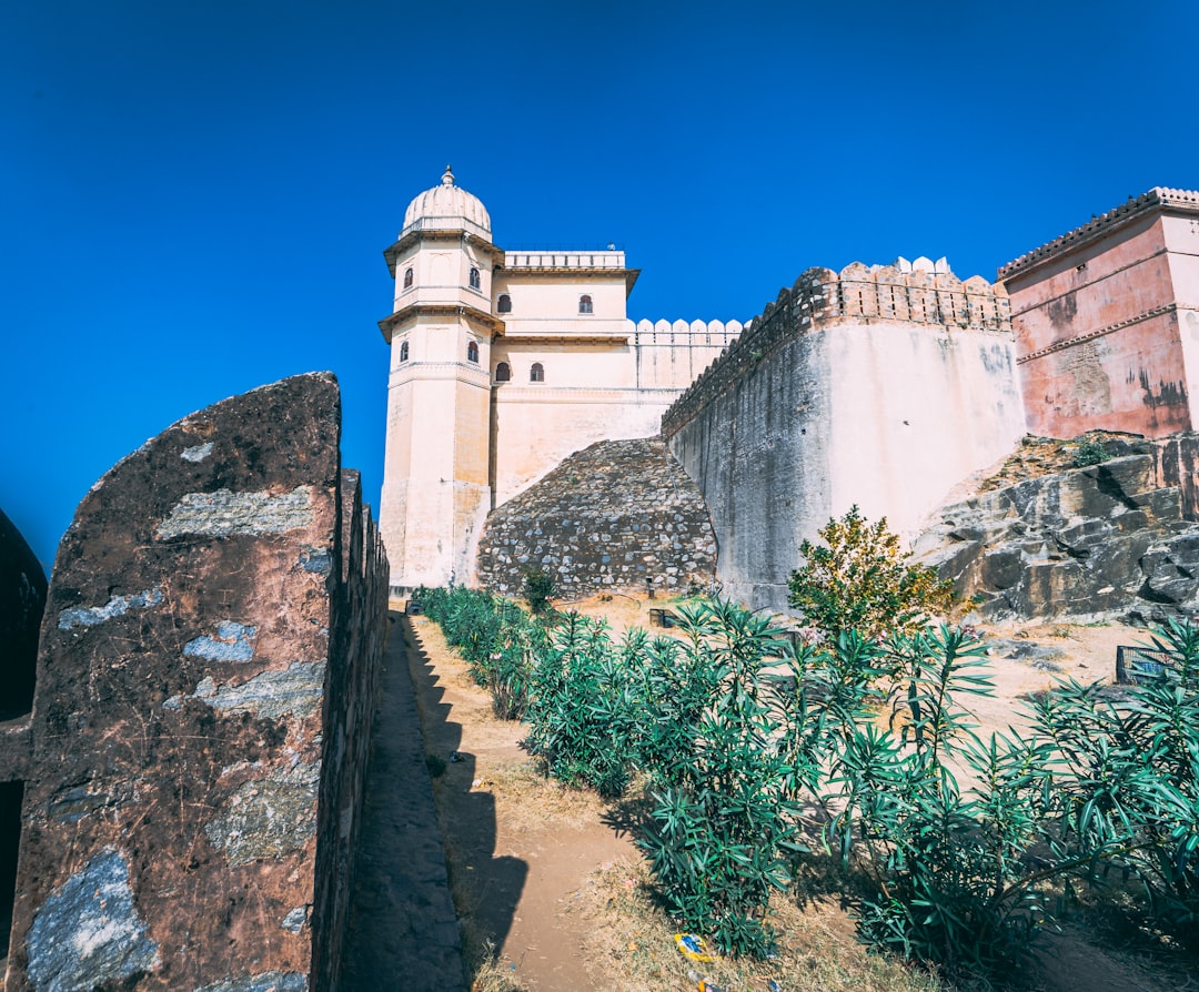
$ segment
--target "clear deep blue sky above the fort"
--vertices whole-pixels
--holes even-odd
[[[0,508],[49,564],[118,459],[314,369],[378,504],[381,252],[447,162],[504,248],[625,248],[632,317],[746,320],[899,254],[994,278],[1199,187],[1197,26],[1185,0],[10,0]]]

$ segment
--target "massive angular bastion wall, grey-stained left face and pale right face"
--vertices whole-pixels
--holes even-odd
[[[662,421],[724,589],[783,607],[800,545],[852,504],[914,536],[1024,434],[1007,301],[977,277],[805,272]]]

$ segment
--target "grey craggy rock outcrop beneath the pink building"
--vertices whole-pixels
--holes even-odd
[[[1187,519],[1183,490],[1161,484],[1161,446],[1108,444],[1120,456],[942,508],[915,542],[917,558],[988,619],[1194,612],[1199,524]],[[1174,455],[1165,462],[1176,478]]]

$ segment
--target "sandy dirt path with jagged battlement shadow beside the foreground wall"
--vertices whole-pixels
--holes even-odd
[[[635,857],[632,841],[602,824],[604,806],[586,793],[555,786],[552,802],[526,802],[544,786],[519,748],[523,725],[494,719],[434,624],[403,623],[426,745],[446,762],[434,788],[451,864],[465,866],[451,885],[468,945],[492,940],[535,992],[597,987],[570,906],[598,865]]]

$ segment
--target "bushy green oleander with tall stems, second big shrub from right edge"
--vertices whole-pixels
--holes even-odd
[[[858,866],[864,939],[948,973],[995,974],[1029,948],[1044,912],[1022,859],[1044,836],[1044,749],[980,742],[962,695],[987,695],[982,646],[942,628],[886,648],[887,726],[854,727],[833,752],[829,835]],[[978,785],[963,791],[953,768]]]

